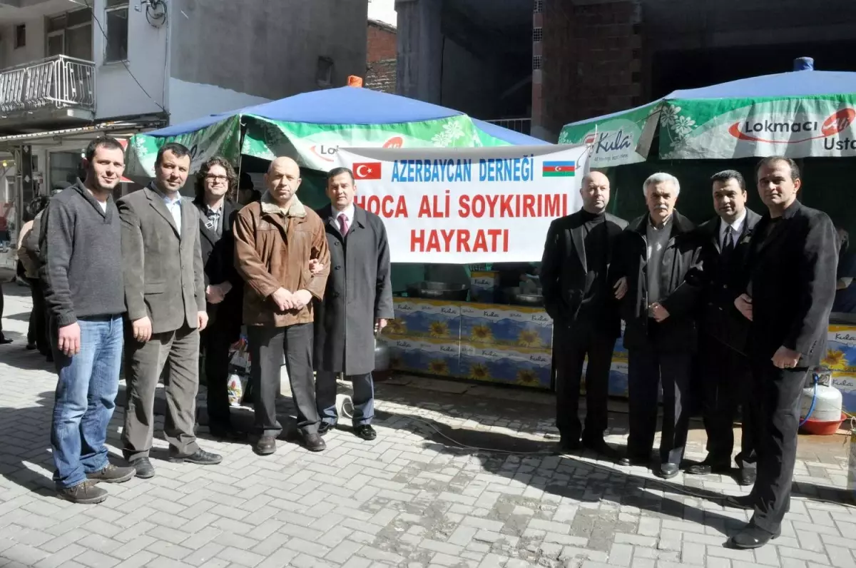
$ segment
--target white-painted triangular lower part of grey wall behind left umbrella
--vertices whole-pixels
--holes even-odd
[[[238,93],[216,85],[189,83],[169,78],[169,123],[181,124],[217,112],[260,105],[270,99]]]

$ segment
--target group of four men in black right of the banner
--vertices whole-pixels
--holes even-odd
[[[730,539],[739,548],[776,538],[788,511],[800,396],[825,351],[838,257],[829,217],[797,200],[802,181],[793,160],[764,158],[756,178],[763,215],[746,207],[740,172],[725,170],[710,180],[716,217],[696,227],[675,209],[675,176],[645,180],[648,212],[627,223],[606,213],[609,179],[591,172],[580,189],[582,209],[550,225],[541,266],[554,320],[562,451],[582,446],[623,465],[651,463],[662,386],[655,473],[668,479],[681,469],[693,391],[701,394],[708,455],[686,471],[730,473],[742,406],[737,481],[753,487],[727,502],[754,515]],[[621,320],[630,420],[623,456],[603,439]]]

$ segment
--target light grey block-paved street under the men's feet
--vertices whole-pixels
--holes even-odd
[[[3,329],[15,343],[0,347],[0,566],[856,568],[856,511],[840,504],[842,437],[800,441],[801,497],[782,536],[734,551],[722,544],[747,513],[722,507],[722,493],[740,493],[730,478],[657,481],[587,454],[452,447],[443,435],[457,445],[549,451],[550,398],[408,378],[378,385],[373,442],[342,427],[321,454],[281,442],[275,455],[257,457],[247,445],[203,440],[222,464],[157,459],[153,479],[107,486],[101,505],[72,505],[52,491],[54,375],[23,349],[27,290],[4,289]],[[610,420],[609,441],[623,445],[625,416]],[[116,455],[121,425],[117,408]],[[163,457],[166,443],[156,446]],[[703,456],[696,429],[688,457]]]

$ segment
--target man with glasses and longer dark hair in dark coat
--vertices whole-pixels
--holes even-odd
[[[205,351],[208,428],[221,439],[243,439],[229,414],[229,347],[241,338],[243,280],[235,269],[232,228],[238,210],[231,199],[237,176],[226,158],[205,160],[196,174],[199,245],[205,266],[205,311],[208,326],[201,333]]]

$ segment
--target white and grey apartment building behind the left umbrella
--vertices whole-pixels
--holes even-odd
[[[73,182],[98,134],[127,140],[364,75],[367,4],[0,0],[0,265],[23,204]]]

